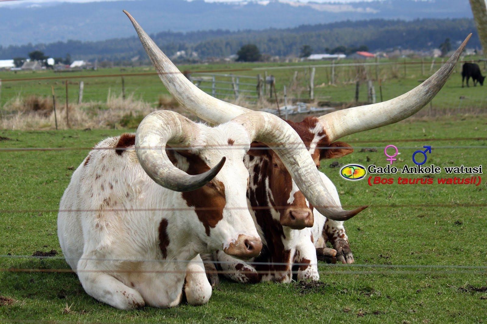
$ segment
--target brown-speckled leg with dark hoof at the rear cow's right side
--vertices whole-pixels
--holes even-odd
[[[354,263],[354,255],[350,249],[348,236],[343,227],[343,221],[326,219],[323,230],[323,236],[326,236],[328,241],[337,250],[337,261],[341,263]]]

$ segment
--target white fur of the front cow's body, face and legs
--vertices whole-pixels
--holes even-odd
[[[226,157],[215,177],[225,185],[223,219],[209,236],[181,193],[147,176],[133,147],[115,153],[117,137],[96,145],[89,161],[75,170],[61,199],[58,237],[66,261],[95,299],[121,309],[176,306],[186,276],[188,303],[204,304],[211,286],[198,253],[223,249],[239,234],[258,237],[245,198],[248,133],[234,122],[200,129],[195,136],[201,145],[193,153],[210,167]],[[227,144],[230,138],[233,146]],[[186,171],[182,160],[176,166]],[[159,248],[163,219],[168,221],[166,258]]]

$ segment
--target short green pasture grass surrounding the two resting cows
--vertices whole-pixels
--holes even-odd
[[[394,183],[369,186],[341,178],[332,161],[323,161],[322,170],[344,208],[370,205],[346,222],[355,265],[322,264],[314,284],[223,280],[199,307],[121,311],[95,301],[62,258],[56,210],[89,148],[121,132],[0,130],[0,322],[487,322],[487,179],[478,175],[479,186],[438,184],[448,177],[442,170],[431,175],[433,184],[397,184],[396,174],[372,175]],[[394,144],[399,168],[412,166],[412,153],[423,145],[432,146],[424,166],[487,167],[486,115],[408,119],[343,141],[355,152],[338,160],[342,165],[385,166],[383,149]],[[53,257],[29,257],[51,250]]]

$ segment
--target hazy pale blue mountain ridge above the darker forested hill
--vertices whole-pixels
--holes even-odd
[[[241,3],[202,0],[124,0],[0,7],[0,46],[98,41],[133,36],[122,9],[148,33],[161,31],[263,30],[343,20],[471,18],[463,0],[373,0],[347,4],[274,0]]]

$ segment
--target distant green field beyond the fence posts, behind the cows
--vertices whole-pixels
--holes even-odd
[[[468,56],[464,61],[476,60],[478,57]],[[446,59],[445,59],[446,61]],[[367,61],[374,63],[375,61]],[[228,64],[200,64],[178,66],[181,71],[190,72],[216,72],[233,73],[256,77],[274,75],[276,78],[276,90],[278,99],[283,103],[283,88],[287,88],[287,99],[309,99],[310,65],[324,65],[316,69],[314,81],[314,93],[317,101],[331,102],[332,105],[355,102],[356,80],[371,79],[374,81],[376,101],[389,100],[403,94],[439,69],[442,59],[436,59],[434,65],[431,59],[425,59],[421,63],[417,58],[381,59],[379,68],[375,66],[337,66],[335,68],[334,81],[332,83],[332,68],[330,61],[300,62],[300,63],[228,63]],[[341,60],[337,64],[357,63],[350,60]],[[460,62],[438,95],[433,99],[432,106],[441,109],[449,109],[453,113],[465,108],[484,109],[486,100],[485,90],[482,87],[461,88],[461,64]],[[484,66],[481,64],[484,70]],[[295,78],[295,73],[296,78]],[[2,79],[0,110],[7,109],[9,102],[15,98],[23,98],[29,95],[51,98],[51,86],[55,88],[58,105],[64,105],[66,99],[65,82],[68,80],[68,99],[71,103],[78,102],[79,82],[84,82],[83,102],[106,102],[109,94],[120,95],[122,93],[122,75],[124,75],[125,94],[133,95],[136,100],[143,100],[156,106],[161,95],[168,94],[162,86],[155,70],[152,67],[126,67],[105,68],[97,71],[79,71],[56,73],[53,71],[38,72],[10,72],[0,71]],[[132,75],[130,75],[132,74]],[[142,74],[142,75],[133,75]],[[485,72],[484,72],[485,74]],[[106,75],[115,75],[105,77]],[[197,75],[193,73],[193,76]],[[29,80],[32,79],[32,80]],[[379,85],[380,79],[380,85]],[[295,80],[295,81],[293,81]],[[254,82],[244,80],[242,82]],[[472,82],[470,81],[470,84]],[[227,87],[230,87],[227,85]],[[479,89],[480,88],[480,89]],[[255,86],[246,86],[246,89],[254,89]],[[382,96],[381,96],[382,93]],[[265,97],[269,99],[267,91]],[[362,82],[359,89],[359,102],[367,102],[366,82]],[[275,100],[273,98],[271,101]],[[272,107],[272,103],[261,103],[262,106]],[[275,104],[274,104],[275,105]],[[265,107],[263,107],[265,108]]]

